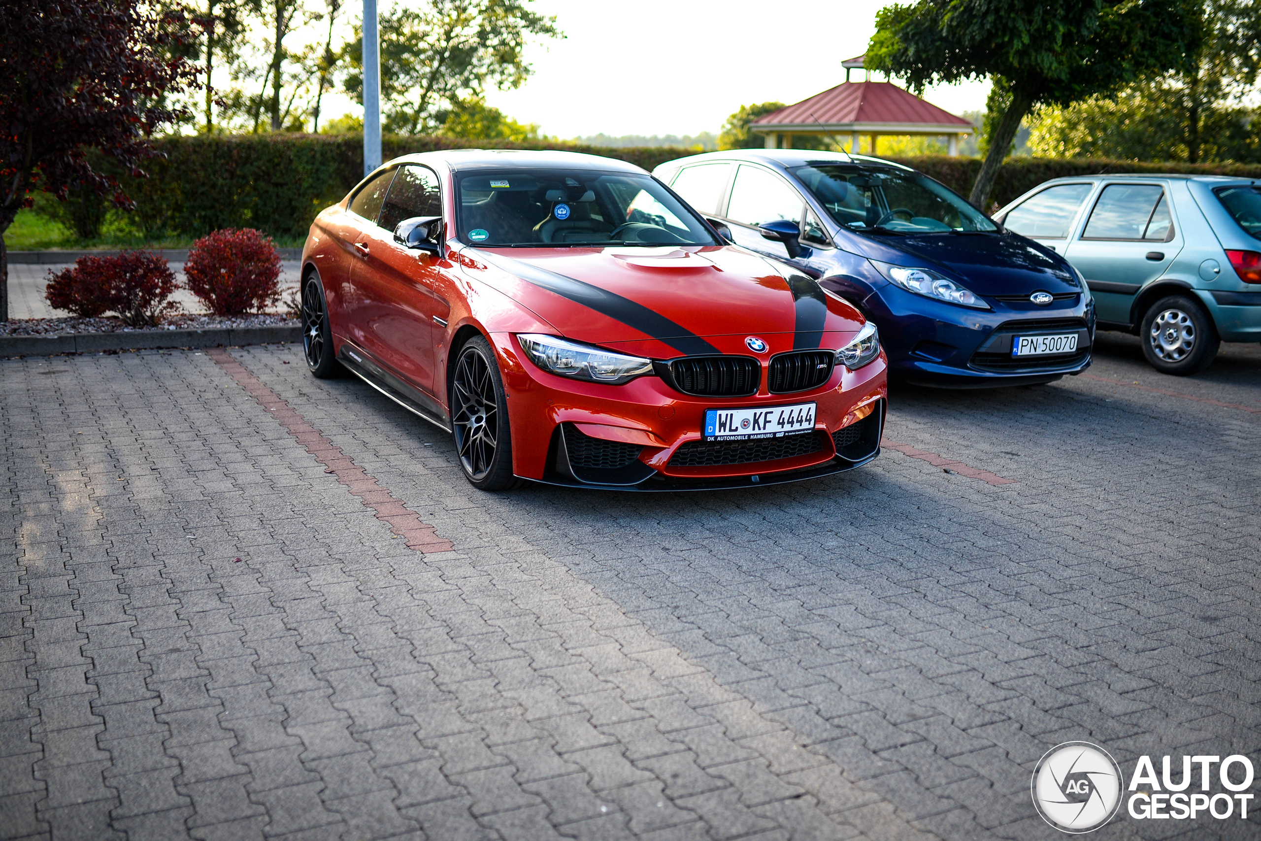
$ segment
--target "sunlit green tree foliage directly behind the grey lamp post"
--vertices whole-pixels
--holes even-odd
[[[525,61],[531,38],[564,38],[556,19],[531,9],[531,0],[430,0],[404,4],[380,18],[381,98],[385,129],[434,131],[438,117],[488,87],[518,88],[532,68]],[[363,101],[363,34],[348,44],[346,90]]]

